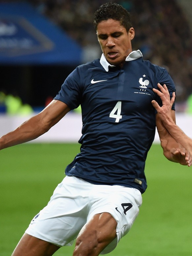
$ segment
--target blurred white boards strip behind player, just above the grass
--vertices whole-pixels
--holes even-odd
[[[31,116],[8,116],[4,114],[0,115],[0,136],[13,131],[17,126],[19,126]],[[192,115],[177,113],[176,123],[190,138],[192,138]],[[69,112],[47,133],[32,142],[78,142],[81,137],[81,129],[81,115]],[[155,134],[154,143],[160,143],[157,131]]]

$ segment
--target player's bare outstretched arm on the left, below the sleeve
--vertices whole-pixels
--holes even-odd
[[[65,103],[52,100],[42,112],[19,125],[14,131],[3,135],[0,138],[0,150],[38,138],[69,111],[70,108]]]

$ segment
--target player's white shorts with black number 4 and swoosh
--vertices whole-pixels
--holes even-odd
[[[26,233],[58,246],[72,245],[95,214],[109,212],[117,221],[117,237],[101,253],[106,254],[129,232],[141,204],[141,192],[135,188],[95,185],[66,176],[48,205],[33,218]]]

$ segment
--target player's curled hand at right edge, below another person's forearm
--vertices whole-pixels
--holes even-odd
[[[190,152],[185,148],[172,148],[171,154],[175,162],[181,165],[187,165],[189,167],[191,166],[192,157],[190,155]]]

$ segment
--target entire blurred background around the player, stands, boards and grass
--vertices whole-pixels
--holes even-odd
[[[0,1],[0,136],[41,111],[77,65],[100,57],[93,15],[105,2]],[[192,1],[111,2],[132,14],[133,49],[169,70],[177,90],[177,124],[192,138]],[[0,256],[11,255],[30,219],[47,204],[79,152],[81,125],[79,111],[73,111],[36,144],[0,152]],[[141,214],[109,255],[192,256],[191,169],[166,160],[156,135],[146,175]],[[72,255],[72,248],[55,255]]]

